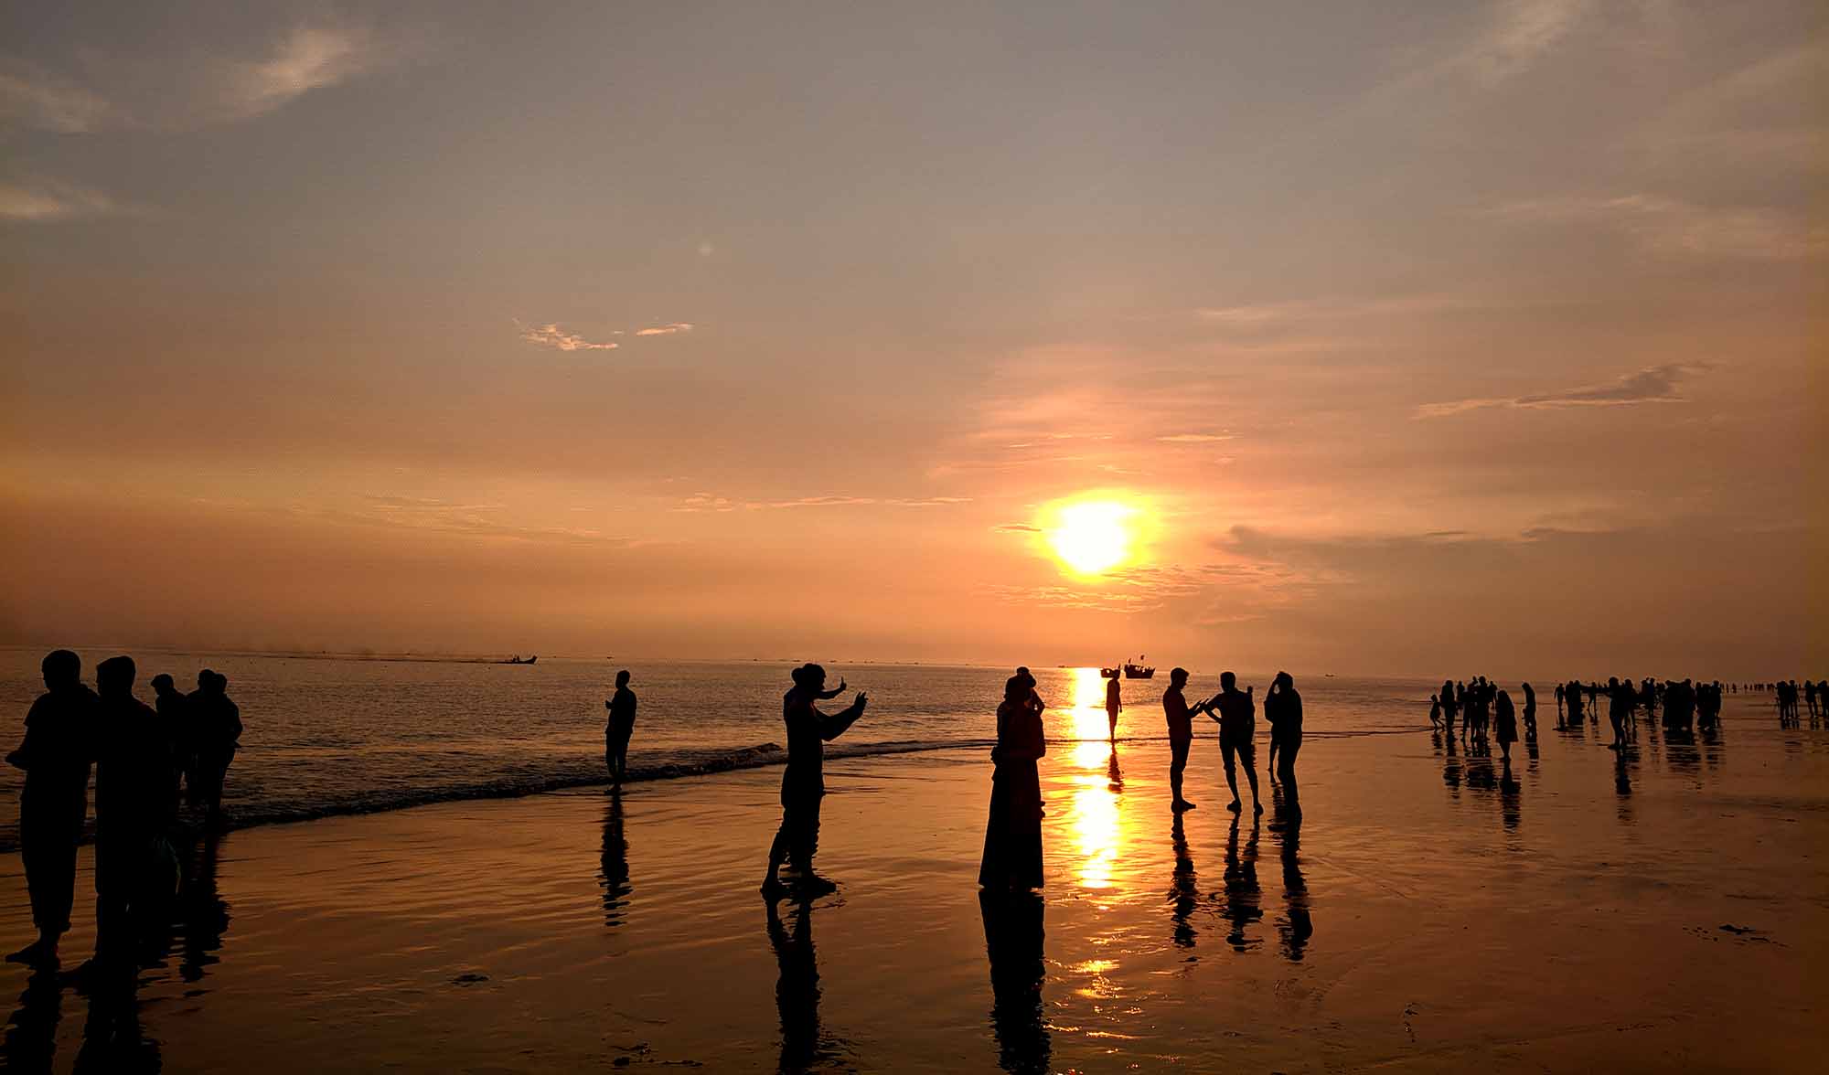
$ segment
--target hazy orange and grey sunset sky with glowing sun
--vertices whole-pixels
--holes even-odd
[[[1811,2],[5,4],[0,640],[1829,675],[1825,102]]]

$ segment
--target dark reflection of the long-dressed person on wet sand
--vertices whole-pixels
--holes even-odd
[[[1176,819],[1180,826],[1180,817]],[[1043,1075],[1052,1042],[1043,1020],[1043,898],[1039,892],[979,892],[984,953],[991,960],[991,1035],[1004,1071]]]

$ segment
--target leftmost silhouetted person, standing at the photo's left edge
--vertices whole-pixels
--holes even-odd
[[[5,755],[26,770],[18,797],[18,850],[38,940],[7,956],[15,963],[57,963],[77,890],[77,843],[90,812],[90,757],[95,691],[82,686],[82,658],[53,649],[40,665],[44,693],[26,711],[26,739]]]

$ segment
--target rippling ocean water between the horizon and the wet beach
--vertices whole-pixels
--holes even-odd
[[[84,678],[112,651],[84,651]],[[40,649],[0,649],[0,739],[18,742],[26,709],[44,689]],[[225,806],[236,825],[390,810],[441,799],[518,795],[602,782],[604,698],[620,664],[541,658],[534,665],[463,660],[302,658],[273,655],[141,651],[141,698],[157,673],[194,686],[212,667],[229,676],[247,731],[229,772]],[[629,665],[640,697],[629,766],[635,779],[719,772],[783,761],[781,695],[786,662],[655,662]],[[1103,739],[1105,693],[1094,669],[1035,667],[1048,700],[1050,740]],[[871,709],[832,755],[989,746],[1004,667],[827,664]],[[1489,673],[1491,675],[1491,673]],[[1240,684],[1269,673],[1240,669]],[[1430,680],[1297,676],[1306,735],[1412,733],[1428,728]],[[1533,678],[1549,684],[1551,676]],[[1503,680],[1516,687],[1514,680]],[[1154,680],[1125,682],[1119,735],[1163,735]],[[1218,689],[1218,671],[1194,669],[1189,697]],[[1522,708],[1522,695],[1516,695]],[[1540,691],[1540,720],[1555,702]],[[1770,718],[1770,702],[1727,700],[1728,718]],[[15,848],[22,773],[0,766],[0,848]]]

